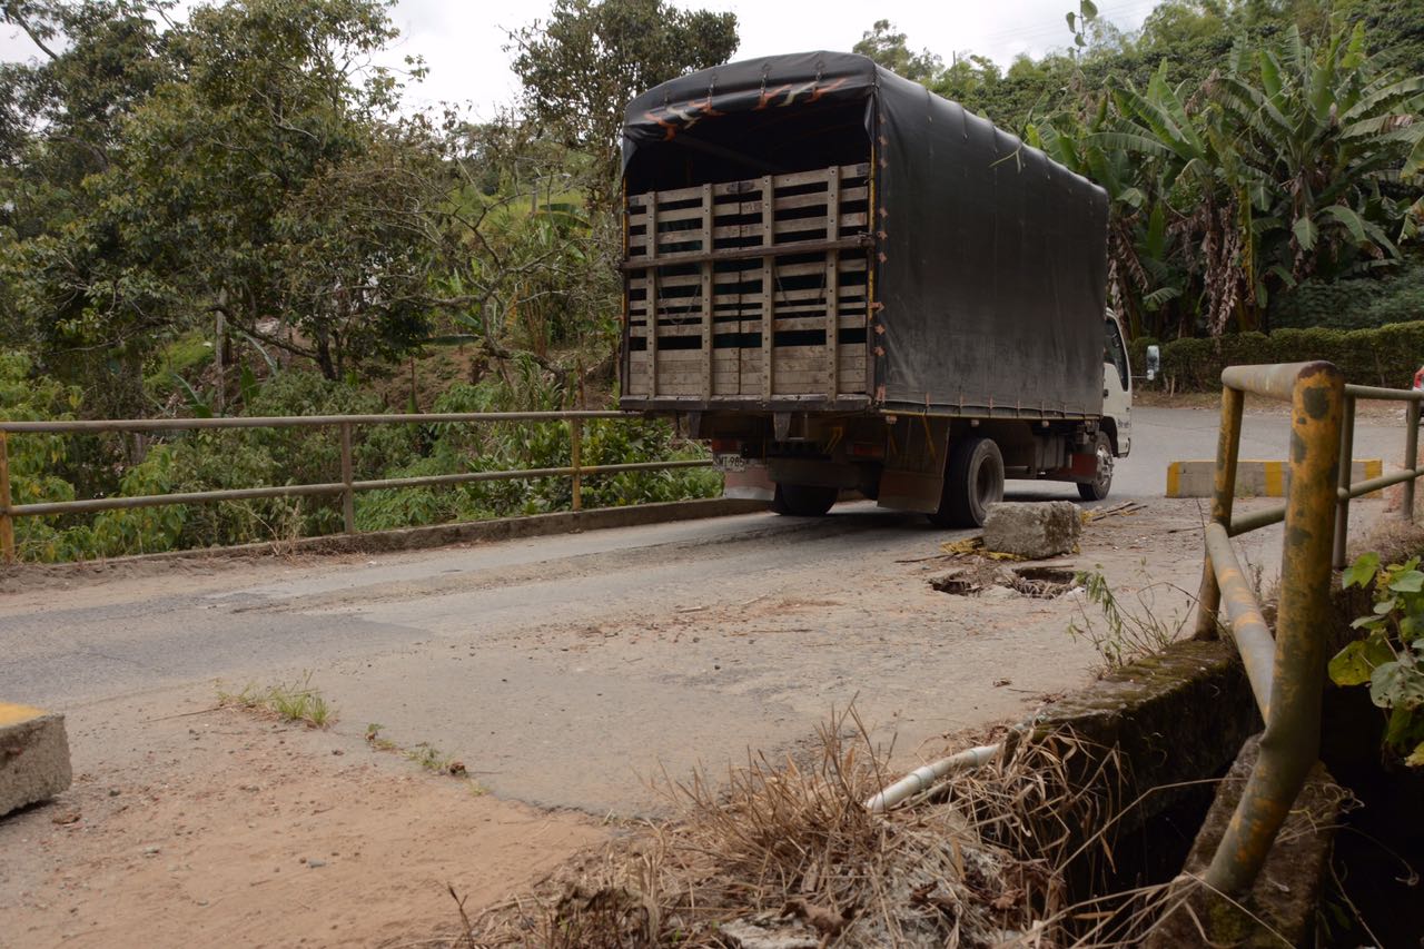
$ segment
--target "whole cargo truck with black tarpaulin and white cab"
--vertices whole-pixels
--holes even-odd
[[[973,527],[1004,479],[1106,497],[1132,437],[1106,192],[847,53],[628,104],[619,406],[783,514]]]

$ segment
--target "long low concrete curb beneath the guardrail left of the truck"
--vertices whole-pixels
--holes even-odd
[[[524,537],[545,537],[582,530],[607,530],[611,527],[642,527],[675,520],[702,520],[706,517],[731,517],[733,514],[755,514],[766,510],[765,500],[735,497],[711,497],[686,502],[664,502],[656,504],[631,504],[628,507],[597,507],[581,512],[555,512],[553,514],[531,514],[528,517],[501,517],[496,520],[467,520],[453,524],[431,524],[429,527],[402,527],[377,530],[365,534],[329,534],[325,537],[300,537],[292,541],[263,541],[238,544],[235,547],[197,547],[192,550],[169,550],[131,557],[108,557],[104,560],[77,560],[73,563],[17,564],[0,567],[0,577],[20,576],[27,567],[43,566],[46,571],[71,569],[84,573],[95,569],[122,564],[164,563],[168,560],[215,560],[265,557],[293,553],[390,553],[400,550],[429,550],[460,543],[490,540],[518,540]]]

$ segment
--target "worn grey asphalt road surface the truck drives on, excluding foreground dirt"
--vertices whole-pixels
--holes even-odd
[[[1168,462],[1210,457],[1216,412],[1138,409],[1084,554],[1128,576],[1199,570]],[[1243,457],[1283,457],[1284,416],[1247,416]],[[1398,460],[1400,423],[1357,426]],[[1010,497],[1077,500],[1072,484]],[[1114,522],[1108,524],[1108,522]],[[1168,524],[1188,524],[1169,533]],[[795,752],[852,700],[899,748],[1015,720],[1091,678],[1068,606],[934,593],[956,531],[869,503],[820,520],[749,514],[376,557],[148,564],[0,596],[0,698],[66,711],[75,769],[142,750],[145,715],[211,705],[214,681],[312,684],[359,737],[459,755],[496,794],[601,814],[655,807],[639,781]],[[904,754],[909,754],[906,751]]]

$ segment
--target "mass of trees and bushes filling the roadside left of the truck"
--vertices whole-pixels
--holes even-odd
[[[0,66],[0,415],[560,409],[611,389],[622,101],[736,48],[731,14],[561,1],[514,34],[523,110],[410,113],[392,0],[3,0],[40,48]],[[632,67],[637,68],[632,68]],[[409,74],[423,73],[412,63]],[[592,113],[590,111],[592,108]],[[481,353],[416,406],[387,380]],[[433,400],[433,405],[430,403]],[[357,432],[356,477],[568,463],[561,426]],[[665,425],[584,459],[682,457]],[[336,433],[11,439],[16,502],[340,480]],[[711,472],[591,479],[590,506],[703,496]],[[557,510],[568,479],[357,499],[363,529]],[[340,529],[333,499],[19,520],[26,557]]]

